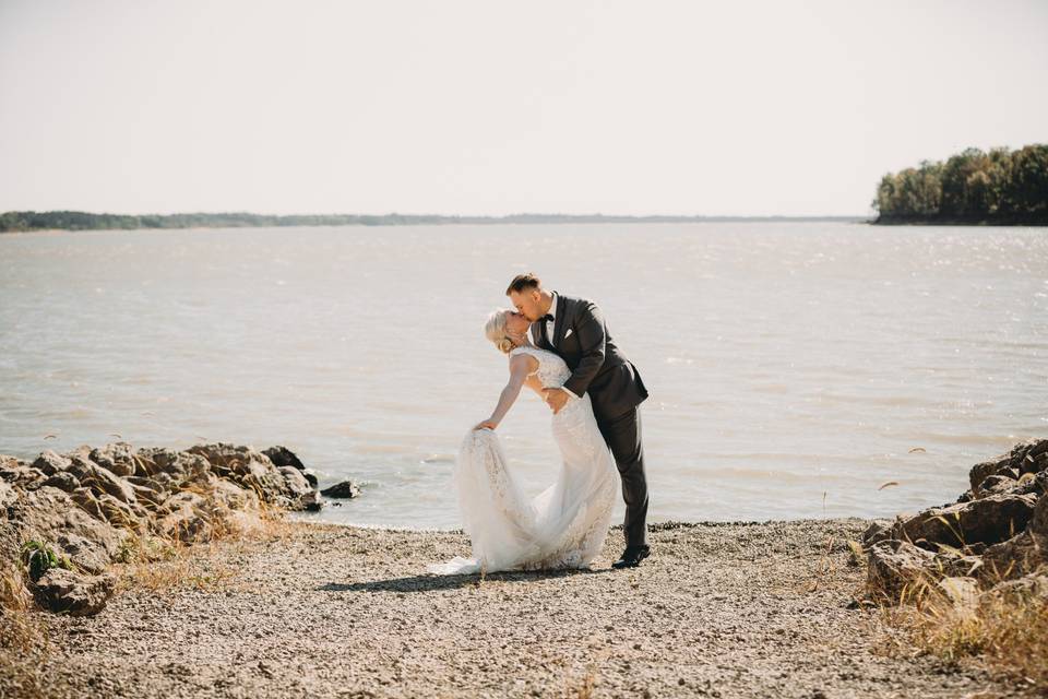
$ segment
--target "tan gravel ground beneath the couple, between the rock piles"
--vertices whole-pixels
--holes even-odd
[[[133,588],[47,616],[56,697],[998,697],[974,664],[880,650],[848,609],[862,520],[665,524],[592,571],[439,578],[458,533],[294,523],[234,541],[214,589]]]

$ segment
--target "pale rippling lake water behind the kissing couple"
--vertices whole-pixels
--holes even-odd
[[[284,445],[362,483],[312,517],[455,528],[507,375],[481,325],[527,270],[644,377],[652,521],[891,516],[1048,436],[1046,228],[240,228],[0,235],[0,453]],[[549,418],[499,430],[533,493]]]

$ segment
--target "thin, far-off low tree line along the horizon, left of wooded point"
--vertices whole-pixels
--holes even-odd
[[[440,216],[415,214],[332,214],[267,216],[250,213],[124,216],[82,211],[9,211],[0,214],[0,233],[13,230],[88,230],[140,228],[231,228],[267,226],[410,226],[499,223],[694,223],[722,221],[861,221],[858,216],[614,216],[604,214],[511,214]]]

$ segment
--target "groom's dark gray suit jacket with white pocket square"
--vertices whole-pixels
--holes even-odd
[[[590,392],[598,420],[618,417],[647,398],[640,372],[616,346],[596,304],[558,292],[553,316],[552,337],[545,321],[532,323],[532,333],[539,347],[560,355],[571,369],[564,388],[579,396]]]

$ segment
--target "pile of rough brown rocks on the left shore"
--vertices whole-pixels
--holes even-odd
[[[45,451],[32,463],[0,455],[8,596],[32,593],[52,612],[96,614],[112,594],[115,562],[166,542],[235,533],[266,508],[314,510],[320,502],[315,477],[283,447],[174,451],[116,442]]]

